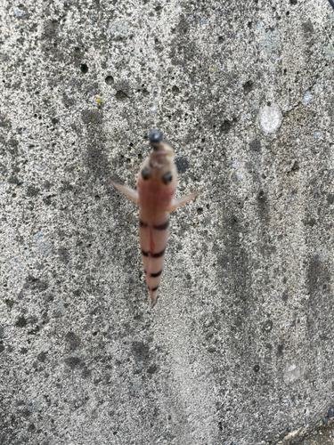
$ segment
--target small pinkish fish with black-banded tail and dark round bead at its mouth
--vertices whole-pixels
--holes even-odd
[[[151,131],[150,143],[153,151],[141,166],[137,190],[110,182],[118,191],[141,206],[139,238],[152,308],[158,300],[158,287],[168,238],[169,213],[195,198],[202,190],[175,199],[177,170],[174,151],[162,141],[162,133],[158,130]]]

